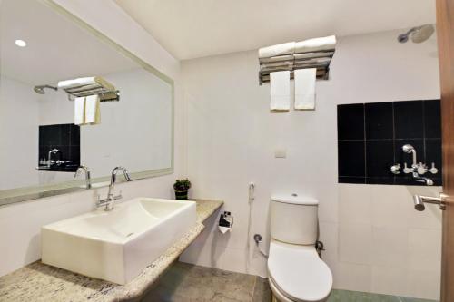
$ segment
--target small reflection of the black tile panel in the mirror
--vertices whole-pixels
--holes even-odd
[[[49,156],[49,151],[58,149],[53,159],[66,161],[64,165],[51,170],[74,172],[80,166],[80,127],[74,124],[39,126],[38,161]]]

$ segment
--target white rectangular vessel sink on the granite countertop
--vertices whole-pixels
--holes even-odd
[[[42,261],[125,284],[195,225],[195,202],[136,198],[41,228]]]

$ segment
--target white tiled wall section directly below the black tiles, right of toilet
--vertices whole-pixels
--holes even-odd
[[[340,210],[337,285],[344,289],[365,288],[348,282],[352,270],[370,278],[372,292],[439,299],[441,211],[431,206],[416,211],[412,195],[436,196],[441,188],[353,184],[339,187],[339,204],[347,209]],[[359,206],[362,199],[368,203],[369,196],[369,223],[350,223],[361,219],[348,214],[342,219],[342,212],[369,215],[364,210],[366,206]],[[350,267],[351,264],[361,266]],[[419,276],[423,277],[419,280]]]

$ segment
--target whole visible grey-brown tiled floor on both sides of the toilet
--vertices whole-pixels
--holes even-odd
[[[143,302],[270,302],[268,280],[176,262]],[[434,302],[334,289],[328,302]]]

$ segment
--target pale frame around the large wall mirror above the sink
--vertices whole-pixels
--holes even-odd
[[[56,14],[63,15],[66,17],[70,22],[73,22],[75,26],[79,26],[81,30],[88,31],[91,34],[94,34],[95,37],[101,43],[105,43],[113,47],[119,53],[125,55],[126,57],[133,60],[133,62],[139,64],[144,70],[149,73],[153,73],[155,76],[163,80],[165,83],[170,84],[172,89],[171,95],[171,166],[169,168],[157,169],[157,170],[143,170],[139,172],[131,173],[131,178],[134,180],[143,180],[163,175],[169,175],[173,173],[173,164],[174,164],[174,97],[175,97],[175,87],[174,81],[171,77],[167,76],[166,74],[160,72],[156,68],[154,68],[149,63],[146,63],[137,55],[133,54],[132,52],[128,51],[122,45],[117,44],[109,38],[107,35],[101,33],[97,29],[95,29],[92,25],[87,24],[76,15],[73,15],[71,12],[66,10],[62,5],[58,5],[54,2],[54,0],[36,0],[41,2],[43,5],[48,6],[50,9],[53,9]],[[127,167],[126,167],[127,168]],[[112,167],[114,169],[114,167]],[[85,189],[82,188],[84,186],[85,180],[70,180],[70,181],[63,181],[59,183],[52,183],[46,184],[41,186],[30,186],[30,187],[21,187],[15,189],[8,189],[8,190],[0,190],[0,207],[5,207],[6,205],[13,204],[15,202],[26,201],[26,200],[37,200],[42,199],[45,197],[51,197],[71,192],[77,191],[85,191],[85,190],[97,190],[99,188],[103,188],[109,185],[110,183],[110,175],[104,177],[98,177],[92,179],[92,189]],[[125,181],[123,176],[117,180],[118,182]]]

